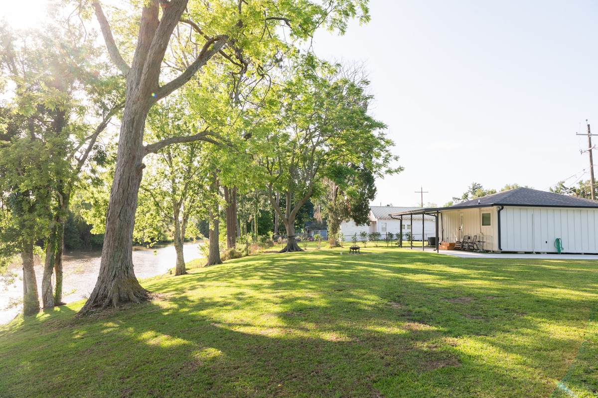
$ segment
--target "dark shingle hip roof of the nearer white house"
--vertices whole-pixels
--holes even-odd
[[[542,207],[596,207],[598,200],[576,198],[575,196],[560,195],[529,188],[515,188],[508,191],[471,199],[457,203],[446,209],[480,207],[480,206],[542,206]]]

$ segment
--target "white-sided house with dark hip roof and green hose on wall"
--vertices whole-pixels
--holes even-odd
[[[477,235],[483,249],[529,253],[598,253],[598,201],[517,188],[446,208],[400,211],[435,215],[440,241]]]

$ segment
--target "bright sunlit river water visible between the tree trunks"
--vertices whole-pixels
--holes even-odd
[[[196,243],[187,243],[183,247],[185,262],[202,256]],[[102,251],[69,251],[63,258],[63,301],[70,303],[89,297],[96,285],[100,269],[100,256]],[[166,273],[176,265],[176,252],[173,245],[156,245],[152,248],[133,248],[133,265],[135,275],[144,279]],[[11,270],[19,274],[14,285],[6,289],[0,287],[0,324],[5,324],[23,311],[23,305],[7,308],[12,300],[23,299],[23,270]],[[41,277],[43,268],[36,263],[35,275],[38,282],[38,291],[41,291]],[[54,285],[54,281],[52,283]]]

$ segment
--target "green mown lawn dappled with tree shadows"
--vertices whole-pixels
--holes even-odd
[[[0,397],[596,397],[595,262],[260,254],[0,326]]]

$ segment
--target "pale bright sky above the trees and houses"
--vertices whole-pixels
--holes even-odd
[[[1,13],[16,25],[44,9],[9,4]],[[396,144],[405,169],[377,181],[372,205],[419,206],[423,190],[424,206],[443,206],[474,182],[548,190],[590,178],[576,133],[588,120],[598,134],[598,2],[371,0],[370,14],[342,37],[318,32],[312,48],[364,63],[371,113]]]

